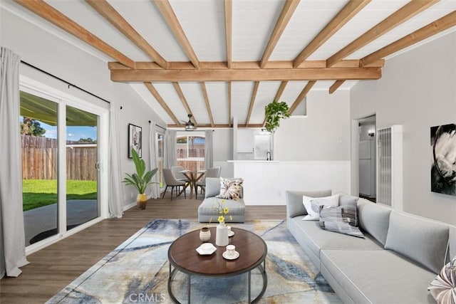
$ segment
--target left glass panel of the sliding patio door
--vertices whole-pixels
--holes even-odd
[[[58,104],[21,91],[22,197],[26,246],[57,231]]]

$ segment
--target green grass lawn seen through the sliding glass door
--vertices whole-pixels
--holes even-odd
[[[23,179],[24,211],[57,202],[56,179]],[[66,181],[66,199],[97,199],[97,182]]]

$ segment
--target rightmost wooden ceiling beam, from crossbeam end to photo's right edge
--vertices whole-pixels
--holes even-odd
[[[412,46],[419,41],[423,41],[430,36],[433,36],[441,31],[445,31],[447,28],[456,26],[456,11],[452,11],[450,14],[443,16],[442,18],[423,26],[422,28],[414,31],[413,33],[408,34],[407,36],[400,38],[393,43],[388,44],[380,50],[375,51],[368,56],[361,58],[360,66],[366,66],[369,63],[376,61],[378,58],[385,58],[391,54]]]

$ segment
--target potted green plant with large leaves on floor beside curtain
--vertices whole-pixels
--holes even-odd
[[[122,182],[129,186],[131,185],[138,190],[138,196],[136,197],[138,208],[145,209],[145,204],[147,203],[145,189],[150,184],[158,184],[157,182],[152,182],[152,177],[157,173],[158,168],[146,172],[144,159],[140,159],[138,152],[133,148],[131,149],[131,154],[133,156],[133,162],[135,163],[136,173],[125,173],[127,177],[125,177]]]

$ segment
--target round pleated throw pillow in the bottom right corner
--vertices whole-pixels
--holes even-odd
[[[456,303],[456,256],[427,288],[437,303]]]

